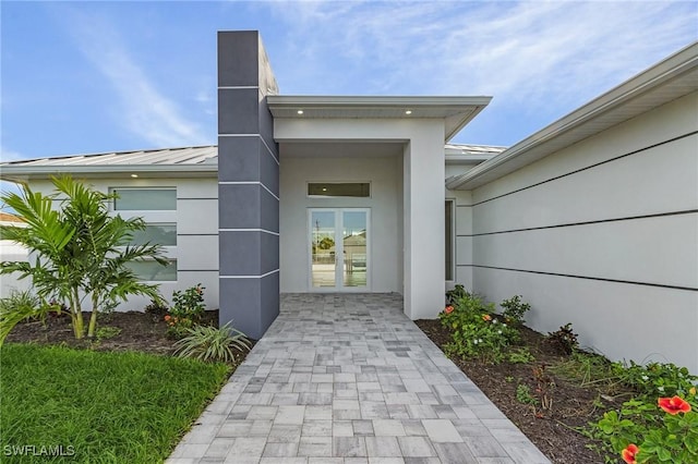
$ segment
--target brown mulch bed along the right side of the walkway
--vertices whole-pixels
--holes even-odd
[[[448,331],[440,320],[422,319],[416,323],[437,346],[448,343]],[[603,414],[597,407],[601,392],[581,388],[552,374],[549,366],[564,362],[566,356],[547,344],[539,332],[525,327],[521,335],[524,345],[535,357],[532,363],[494,365],[459,358],[453,361],[553,463],[603,463],[603,457],[587,448],[593,441],[575,430],[598,420]],[[545,376],[554,383],[547,393],[552,399],[550,410],[522,404],[516,398],[519,383],[526,383],[531,395],[537,395],[533,369],[541,366],[546,366]]]

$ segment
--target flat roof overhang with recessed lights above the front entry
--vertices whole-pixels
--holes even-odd
[[[492,97],[362,97],[269,95],[275,119],[443,119],[449,141]]]

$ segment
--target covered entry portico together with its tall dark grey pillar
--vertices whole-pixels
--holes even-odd
[[[280,292],[322,290],[313,283],[313,259],[335,266],[335,284],[327,289],[396,292],[411,319],[435,316],[445,288],[444,143],[489,102],[490,97],[278,95],[258,33],[219,33],[220,322],[233,320],[261,338],[278,315]],[[312,195],[309,184],[323,182],[368,184],[370,194]],[[313,209],[363,210],[365,230],[318,233],[328,251],[320,259],[310,227]],[[335,218],[333,228],[347,219]],[[349,252],[363,254],[363,260]],[[361,267],[362,285],[352,284],[359,279],[345,281],[345,272]],[[327,279],[332,284],[333,276]]]

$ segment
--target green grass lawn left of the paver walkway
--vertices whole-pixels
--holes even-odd
[[[195,359],[33,344],[4,344],[0,369],[0,461],[22,463],[163,462],[229,374]],[[24,445],[39,455],[9,457]],[[46,455],[55,447],[74,455]]]

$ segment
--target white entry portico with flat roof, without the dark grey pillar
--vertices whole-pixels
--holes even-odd
[[[268,96],[279,149],[281,293],[324,290],[309,260],[317,256],[313,228],[334,211],[363,210],[370,218],[365,284],[344,285],[341,273],[347,280],[353,262],[344,246],[342,256],[324,265],[341,266],[328,290],[400,293],[410,318],[433,317],[445,283],[444,141],[488,102],[485,97]],[[317,196],[309,191],[315,183],[364,183],[370,192]],[[346,234],[345,243],[351,240]],[[323,262],[315,262],[321,269]]]

